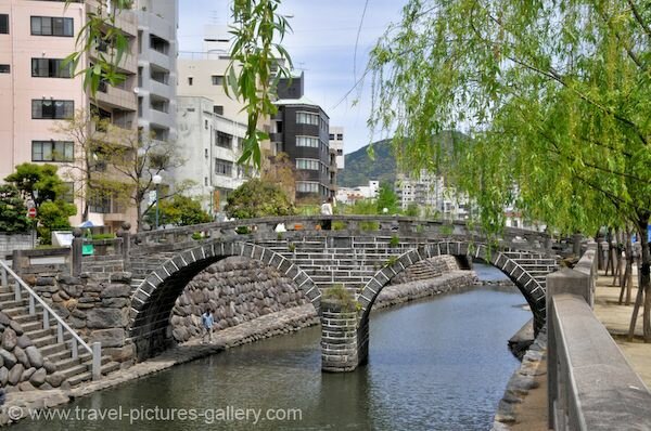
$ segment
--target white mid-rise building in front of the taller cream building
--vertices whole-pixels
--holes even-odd
[[[194,181],[190,194],[218,218],[229,193],[242,185],[250,172],[237,164],[246,125],[215,114],[214,103],[208,97],[178,96],[177,145],[187,161],[175,170],[175,180]]]

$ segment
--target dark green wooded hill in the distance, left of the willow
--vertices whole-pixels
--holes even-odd
[[[368,185],[369,180],[387,181],[392,184],[396,181],[396,158],[391,148],[391,140],[374,142],[372,145],[374,160],[369,157],[368,145],[344,156],[345,168],[337,173],[337,185],[355,187]]]

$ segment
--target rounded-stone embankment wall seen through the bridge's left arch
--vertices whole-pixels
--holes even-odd
[[[210,308],[215,330],[307,303],[296,284],[247,258],[227,258],[196,275],[171,312],[173,337],[187,341],[202,334],[201,315]]]

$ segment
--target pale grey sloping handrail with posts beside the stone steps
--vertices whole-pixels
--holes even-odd
[[[39,297],[15,272],[7,265],[5,262],[0,261],[0,266],[2,267],[2,285],[9,286],[8,283],[8,274],[11,275],[15,280],[14,286],[14,299],[16,302],[22,300],[21,288],[27,290],[29,293],[29,315],[36,315],[36,302],[43,308],[43,329],[50,328],[50,316],[54,317],[56,321],[56,342],[64,343],[63,334],[66,330],[71,336],[73,336],[72,341],[72,350],[73,350],[73,360],[76,360],[79,356],[78,344],[81,344],[84,349],[88,351],[92,355],[92,379],[98,380],[101,374],[101,365],[102,365],[102,343],[95,341],[92,343],[92,347],[88,345],[86,341],[79,337],[79,335],[71,328],[63,318],[56,314],[47,303]]]

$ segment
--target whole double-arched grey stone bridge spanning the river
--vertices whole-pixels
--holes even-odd
[[[319,224],[331,219],[333,230]],[[286,232],[276,232],[278,225]],[[169,230],[123,233],[125,266],[133,274],[128,337],[140,360],[171,342],[170,314],[186,285],[201,271],[230,256],[273,266],[292,278],[321,315],[326,370],[350,370],[368,351],[368,317],[382,288],[419,261],[451,254],[483,260],[503,272],[531,306],[538,331],[546,316],[546,276],[557,269],[544,233],[507,228],[490,241],[462,222],[400,217],[290,217],[206,223]],[[356,299],[346,310],[322,297],[343,285]]]

